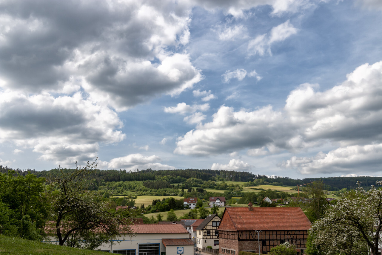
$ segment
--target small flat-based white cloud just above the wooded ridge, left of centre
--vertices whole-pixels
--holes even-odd
[[[130,154],[125,157],[112,159],[108,162],[109,169],[146,169],[153,168],[154,170],[175,169],[170,165],[159,163],[160,157],[151,155],[145,156],[142,154]]]

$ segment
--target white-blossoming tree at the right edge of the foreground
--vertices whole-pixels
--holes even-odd
[[[324,254],[378,254],[382,229],[382,190],[372,185],[369,191],[360,187],[347,191],[337,203],[328,206],[325,215],[309,230],[312,243]],[[382,181],[377,181],[382,185]]]

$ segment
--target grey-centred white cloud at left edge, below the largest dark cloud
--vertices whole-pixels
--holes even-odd
[[[72,165],[93,160],[99,144],[125,138],[117,114],[80,93],[54,97],[0,92],[0,142],[33,148],[39,159]]]

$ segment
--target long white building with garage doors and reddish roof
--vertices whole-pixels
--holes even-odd
[[[193,255],[194,243],[188,238],[188,231],[181,224],[138,224],[132,225],[133,237],[121,236],[106,242],[95,250],[127,255]],[[51,238],[51,243],[55,242]]]

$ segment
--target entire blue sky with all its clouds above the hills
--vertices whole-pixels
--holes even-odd
[[[0,165],[382,176],[380,0],[3,0]]]

